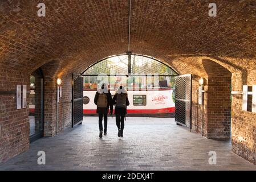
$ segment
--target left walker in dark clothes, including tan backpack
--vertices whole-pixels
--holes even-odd
[[[110,106],[110,114],[113,113],[112,97],[111,93],[107,88],[106,84],[101,85],[101,91],[96,92],[94,97],[94,103],[97,105],[96,113],[99,114],[99,129],[100,135],[102,138],[103,134],[103,125],[102,120],[104,118],[104,135],[107,135],[107,126],[108,126],[108,110]]]

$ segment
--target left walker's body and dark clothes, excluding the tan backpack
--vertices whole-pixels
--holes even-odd
[[[101,86],[101,89],[102,90],[107,89],[107,86],[103,84]],[[107,135],[109,106],[110,106],[110,114],[112,115],[112,113],[113,113],[112,97],[111,97],[110,91],[107,89],[107,92],[104,92],[103,94],[105,94],[105,96],[107,97],[107,107],[99,107],[97,105],[99,96],[100,96],[99,92],[96,92],[95,97],[94,97],[94,104],[97,105],[96,113],[99,114],[99,129],[100,129],[99,137],[100,138],[102,138],[102,134],[103,134],[103,126],[102,126],[103,117],[104,117],[104,135]]]

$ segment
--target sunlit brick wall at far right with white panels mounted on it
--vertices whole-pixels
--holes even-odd
[[[242,85],[256,85],[256,72],[237,75],[233,82],[235,91],[242,91]],[[256,164],[256,113],[242,110],[242,95],[233,95],[232,144],[235,154]]]

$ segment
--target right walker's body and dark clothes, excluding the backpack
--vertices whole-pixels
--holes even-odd
[[[123,96],[126,97],[126,102],[125,106],[118,106],[117,104],[117,94],[123,94]],[[123,88],[123,86],[120,86],[117,91],[115,96],[112,99],[112,104],[116,105],[115,107],[115,115],[116,115],[116,126],[118,129],[118,137],[123,137],[123,131],[124,131],[124,118],[125,115],[127,114],[127,106],[130,105],[128,96],[127,96],[127,90]],[[120,125],[121,123],[121,125]]]

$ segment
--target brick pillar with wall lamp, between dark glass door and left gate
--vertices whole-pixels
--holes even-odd
[[[51,61],[41,68],[44,75],[44,136],[52,137],[65,127],[71,126],[71,73],[58,74],[59,61]],[[62,98],[58,103],[57,123],[57,78],[62,79]],[[58,126],[58,129],[57,129]]]

